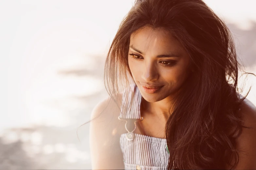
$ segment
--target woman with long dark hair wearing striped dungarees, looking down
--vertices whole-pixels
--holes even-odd
[[[256,108],[237,92],[238,68],[202,0],[135,1],[107,55],[110,98],[92,113],[92,168],[256,169]]]

